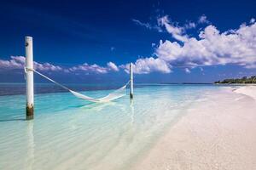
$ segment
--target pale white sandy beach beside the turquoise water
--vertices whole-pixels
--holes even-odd
[[[256,87],[195,102],[134,169],[256,169]]]

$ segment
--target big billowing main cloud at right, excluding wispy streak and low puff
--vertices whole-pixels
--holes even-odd
[[[211,25],[199,37],[199,40],[190,37],[183,45],[160,41],[156,55],[173,66],[236,64],[252,68],[256,65],[256,24],[223,33]]]

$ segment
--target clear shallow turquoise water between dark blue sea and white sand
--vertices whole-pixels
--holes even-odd
[[[0,169],[130,169],[190,105],[219,88],[148,85],[135,88],[133,100],[126,95],[105,104],[70,93],[36,94],[29,122],[25,95],[0,96]]]

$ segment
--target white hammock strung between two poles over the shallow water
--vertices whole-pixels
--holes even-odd
[[[121,92],[123,90],[125,90],[125,88],[127,87],[127,85],[130,83],[130,81],[128,81],[125,86],[123,86],[122,88],[119,88],[117,90],[114,90],[112,93],[108,94],[107,96],[105,97],[102,97],[102,98],[91,98],[89,96],[86,96],[84,94],[79,94],[78,92],[75,92],[65,86],[63,86],[62,84],[60,84],[59,82],[55,82],[54,80],[52,80],[51,78],[49,77],[46,77],[44,74],[38,72],[38,71],[35,71],[34,69],[29,69],[29,68],[25,68],[25,72],[26,71],[34,71],[35,73],[37,73],[38,75],[40,75],[41,77],[44,77],[46,78],[47,80],[49,80],[50,82],[53,82],[55,83],[56,85],[60,86],[61,88],[64,88],[64,89],[67,89],[71,94],[73,94],[74,96],[76,96],[77,98],[79,99],[85,99],[85,100],[88,100],[88,101],[91,101],[91,102],[96,102],[96,103],[103,103],[103,102],[108,102],[108,101],[112,101],[113,99],[119,99],[123,96],[125,96],[125,94],[121,94]]]

